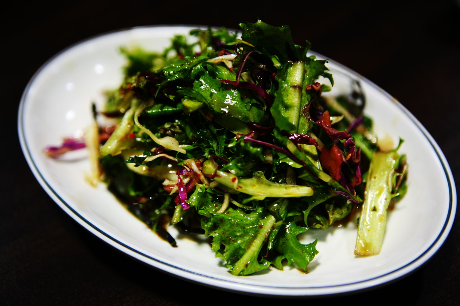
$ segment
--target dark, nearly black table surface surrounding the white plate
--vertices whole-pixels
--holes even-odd
[[[191,284],[135,261],[66,215],[36,181],[16,130],[22,92],[46,60],[93,35],[151,24],[236,28],[239,22],[257,19],[288,24],[297,43],[309,40],[313,50],[366,76],[409,109],[436,139],[460,181],[459,1],[16,2],[2,5],[2,305],[226,305],[273,300]],[[459,275],[457,218],[436,255],[414,273],[365,292],[296,302],[459,305]]]

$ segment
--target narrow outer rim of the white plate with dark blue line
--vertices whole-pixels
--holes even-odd
[[[392,97],[387,91],[382,89],[381,87],[377,86],[364,76],[360,75],[356,71],[334,61],[333,59],[329,59],[329,63],[333,64],[334,66],[339,67],[342,70],[345,70],[346,73],[349,75],[359,79],[362,82],[368,83],[370,87],[373,87],[374,89],[378,90],[381,94],[385,95],[386,98],[391,100],[393,103],[396,104],[397,108],[402,110],[404,114],[410,119],[410,121],[414,124],[414,126],[422,132],[434,152],[436,153],[437,159],[440,162],[442,166],[442,171],[445,175],[446,178],[446,183],[447,187],[449,190],[449,209],[448,213],[446,215],[446,219],[444,220],[444,224],[442,226],[441,231],[437,235],[437,238],[433,240],[431,245],[425,249],[418,257],[416,257],[414,260],[411,262],[406,263],[405,265],[402,265],[394,270],[391,270],[390,272],[379,275],[374,278],[362,280],[359,282],[353,282],[353,283],[346,283],[346,284],[336,284],[336,285],[330,285],[330,286],[299,286],[299,287],[279,287],[279,286],[273,286],[273,285],[258,285],[258,284],[243,284],[240,283],[237,280],[229,281],[225,279],[220,279],[217,277],[212,277],[208,276],[206,274],[202,273],[196,273],[178,266],[175,266],[173,264],[163,262],[155,257],[152,257],[148,254],[145,254],[144,252],[137,250],[124,242],[120,241],[116,237],[111,236],[110,234],[104,232],[102,229],[97,227],[96,224],[93,224],[91,221],[86,219],[84,216],[80,215],[73,207],[71,204],[67,203],[55,190],[54,188],[50,185],[48,181],[46,181],[45,177],[42,175],[39,167],[35,163],[32,157],[32,153],[30,152],[29,146],[26,142],[26,136],[25,136],[25,131],[24,131],[24,121],[23,121],[23,115],[24,111],[27,107],[27,93],[30,90],[30,87],[34,84],[34,81],[40,76],[41,72],[48,66],[50,63],[52,63],[54,60],[56,60],[58,57],[65,55],[66,52],[72,50],[75,47],[80,46],[81,44],[88,43],[90,41],[95,41],[98,39],[101,39],[103,37],[107,37],[109,35],[114,35],[114,34],[121,34],[123,32],[127,31],[136,31],[136,30],[145,30],[145,29],[161,29],[161,28],[180,28],[183,27],[184,29],[192,29],[192,28],[204,28],[208,26],[204,25],[194,25],[194,24],[174,24],[174,25],[169,25],[169,24],[158,24],[158,25],[145,25],[145,26],[136,26],[136,27],[126,27],[126,28],[121,28],[113,31],[108,31],[105,33],[93,35],[91,37],[88,37],[86,39],[80,40],[74,44],[69,45],[68,47],[62,49],[58,53],[56,53],[54,56],[49,58],[32,76],[30,81],[27,83],[23,94],[21,96],[20,100],[20,106],[18,110],[18,135],[20,139],[20,145],[24,154],[24,157],[29,165],[29,168],[31,169],[33,175],[35,178],[38,180],[42,188],[45,189],[46,193],[48,196],[50,196],[57,204],[59,207],[61,207],[72,219],[77,221],[80,225],[82,225],[84,228],[89,230],[92,234],[94,234],[96,237],[99,239],[103,240],[104,242],[108,243],[115,249],[118,249],[119,251],[122,251],[123,253],[131,256],[132,258],[146,263],[151,267],[154,267],[158,270],[161,270],[163,272],[167,272],[173,276],[179,277],[181,279],[184,279],[186,281],[192,281],[198,284],[202,285],[207,285],[211,286],[213,288],[217,289],[223,289],[227,291],[236,291],[240,293],[250,293],[250,294],[255,294],[255,295],[264,295],[264,296],[321,296],[321,295],[336,295],[336,294],[343,294],[343,293],[348,293],[348,292],[357,292],[357,291],[362,291],[369,289],[371,287],[375,286],[380,286],[380,285],[385,285],[389,284],[393,281],[396,281],[404,276],[407,276],[411,273],[413,273],[415,270],[420,268],[422,265],[424,265],[426,262],[428,262],[439,250],[439,248],[442,246],[444,241],[447,239],[450,230],[452,228],[454,219],[455,219],[455,213],[456,213],[456,198],[457,198],[457,193],[456,193],[456,187],[455,187],[455,182],[454,182],[454,177],[452,175],[452,171],[449,167],[449,164],[447,162],[446,157],[442,153],[441,149],[439,148],[436,140],[432,137],[432,135],[426,130],[426,128],[414,117],[414,115],[406,109],[399,101],[397,101],[394,97]],[[318,54],[316,52],[311,52],[312,54],[315,54],[317,57],[323,57],[321,54]],[[155,263],[155,264],[154,264]],[[177,274],[177,271],[182,272],[181,274]],[[184,275],[182,275],[184,274]],[[213,280],[216,282],[216,284],[210,284],[209,282],[206,282],[207,280]],[[379,282],[379,280],[381,280]],[[223,286],[222,284],[225,284]],[[233,285],[232,287],[229,287],[230,285]],[[368,284],[368,285],[363,285],[363,284]],[[335,289],[335,290],[334,290]],[[342,290],[341,290],[342,289]]]

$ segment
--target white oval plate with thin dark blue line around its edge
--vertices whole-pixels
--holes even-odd
[[[193,28],[193,27],[192,27]],[[53,160],[43,154],[47,145],[86,128],[91,103],[104,103],[104,89],[122,80],[124,57],[120,46],[140,45],[161,51],[174,34],[187,34],[188,26],[152,26],[121,30],[75,44],[49,60],[26,87],[19,109],[19,136],[32,172],[70,217],[100,239],[153,267],[189,281],[243,293],[314,296],[344,293],[385,284],[429,260],[446,239],[455,216],[456,190],[443,153],[435,140],[388,93],[353,71],[330,61],[336,86],[347,88],[349,78],[361,82],[367,96],[366,113],[379,136],[390,135],[406,153],[410,167],[409,191],[390,213],[383,248],[378,256],[353,255],[356,226],[327,231],[311,230],[302,239],[319,238],[319,254],[309,273],[295,268],[235,277],[216,259],[205,242],[181,238],[170,247],[131,215],[105,185],[85,181],[89,165],[83,156],[72,161]],[[70,155],[72,156],[72,155]]]

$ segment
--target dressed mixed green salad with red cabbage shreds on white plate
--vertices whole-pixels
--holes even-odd
[[[307,230],[354,221],[356,255],[378,254],[387,211],[406,192],[406,156],[384,148],[356,88],[327,95],[327,61],[262,21],[195,29],[163,52],[127,59],[83,141],[89,180],[102,181],[172,247],[168,233],[204,235],[233,275],[271,266],[306,270],[318,254]],[[400,143],[402,140],[400,140]]]

